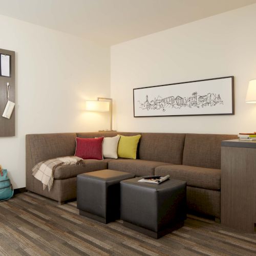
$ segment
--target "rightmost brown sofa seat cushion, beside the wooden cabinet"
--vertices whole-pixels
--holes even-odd
[[[212,190],[221,189],[221,170],[188,165],[158,166],[155,175],[165,176],[184,180],[188,186]]]

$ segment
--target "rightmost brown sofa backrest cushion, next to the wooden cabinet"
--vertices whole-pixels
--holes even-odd
[[[221,141],[237,137],[225,134],[186,134],[182,164],[220,169]]]

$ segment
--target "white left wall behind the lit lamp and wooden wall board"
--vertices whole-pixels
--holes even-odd
[[[110,96],[110,49],[5,16],[0,25],[0,48],[16,52],[16,136],[0,138],[0,164],[25,187],[26,134],[109,129],[84,100]]]

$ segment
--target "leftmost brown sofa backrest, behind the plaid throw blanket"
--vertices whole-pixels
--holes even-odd
[[[47,159],[74,156],[76,133],[28,134],[26,135],[31,154],[32,167]]]

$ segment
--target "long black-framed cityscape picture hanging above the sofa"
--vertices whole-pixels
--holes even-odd
[[[207,107],[209,108],[210,106],[212,108],[214,108],[214,106],[216,106],[216,105],[221,105],[221,104],[224,105],[225,101],[223,102],[223,100],[221,99],[220,94],[218,96],[216,96],[217,93],[214,93],[214,92],[209,92],[207,95],[201,95],[201,96],[199,95],[200,92],[198,92],[197,94],[201,97],[201,102],[198,102],[198,98],[196,96],[196,104],[195,104],[195,102],[192,101],[192,106],[193,106],[193,108],[194,108],[194,106],[196,106],[197,111],[195,113],[193,113],[193,111],[191,111],[191,113],[189,113],[189,114],[187,113],[187,111],[184,112],[184,114],[183,114],[182,110],[181,110],[182,107],[187,106],[187,102],[185,103],[186,105],[184,103],[181,106],[179,105],[179,108],[178,108],[178,105],[175,106],[175,108],[177,107],[176,109],[178,110],[175,113],[175,109],[174,109],[174,105],[173,105],[173,99],[174,98],[172,98],[174,96],[167,95],[167,97],[164,97],[164,98],[160,97],[159,100],[155,98],[155,101],[153,99],[148,100],[148,97],[147,97],[147,91],[148,92],[151,91],[151,94],[152,94],[152,91],[154,90],[154,88],[156,89],[156,92],[157,92],[157,90],[159,90],[160,88],[163,88],[163,87],[169,87],[170,91],[172,91],[171,90],[172,86],[176,86],[176,91],[177,91],[177,88],[178,88],[177,85],[178,84],[179,84],[179,87],[181,85],[189,86],[189,85],[193,84],[194,86],[197,85],[195,87],[195,90],[198,90],[199,86],[204,86],[204,84],[203,84],[204,82],[205,82],[205,84],[207,83],[207,88],[208,88],[210,86],[210,84],[214,84],[214,82],[217,82],[217,81],[220,83],[220,84],[218,84],[218,86],[219,86],[220,91],[222,91],[222,93],[225,93],[225,90],[228,91],[227,92],[228,95],[225,95],[225,99],[226,99],[225,101],[226,101],[226,104],[228,104],[228,106],[225,106],[225,109],[227,109],[227,111],[225,111],[224,109],[220,111],[221,106],[218,106],[218,108],[216,108],[221,113],[214,113],[214,110],[212,110],[212,109],[210,110],[211,113],[207,113],[207,111],[205,111],[205,109],[207,109]],[[221,83],[223,83],[223,84],[225,83],[225,87],[227,87],[227,88],[222,88]],[[185,86],[183,86],[183,88],[185,88]],[[186,87],[186,88],[188,88],[188,87]],[[189,88],[189,90],[191,90],[191,89],[192,88]],[[146,96],[144,99],[146,99],[146,101],[143,102],[144,99],[142,99],[142,98],[141,98],[142,101],[139,100],[138,95],[142,93],[142,92],[138,93],[139,90],[143,90],[143,94]],[[159,91],[163,91],[163,90],[159,90]],[[166,91],[166,90],[164,90],[164,91]],[[204,91],[204,90],[202,90],[202,91]],[[212,91],[214,91],[214,88],[212,89]],[[209,96],[209,94],[210,94],[210,96]],[[160,94],[156,93],[155,97],[158,97],[158,95],[160,96]],[[164,96],[166,96],[166,95],[164,95]],[[211,99],[211,96],[212,97],[217,97],[217,98],[212,98]],[[179,97],[179,96],[177,95],[177,97]],[[177,97],[175,98],[175,100],[177,99]],[[171,103],[166,103],[167,98],[169,98],[168,100],[170,100],[172,102]],[[182,97],[180,97],[180,98],[182,99]],[[187,99],[187,100],[190,100],[190,103],[191,103],[191,98],[195,98],[195,96],[189,97]],[[185,99],[185,97],[183,97],[183,100],[184,99]],[[163,100],[164,100],[164,103],[161,104],[161,102],[163,102]],[[179,100],[179,98],[178,98],[178,100]],[[217,103],[216,103],[216,101],[217,101]],[[176,103],[177,103],[177,101],[176,101]],[[148,109],[148,106],[149,106],[149,109]],[[166,111],[167,107],[170,108],[170,109],[174,109],[174,111],[168,111],[166,113],[162,113],[162,112],[159,111],[161,109],[161,106],[162,106],[163,110],[165,110],[165,111]],[[190,106],[191,106],[191,104],[190,104]],[[190,108],[190,106],[189,106],[189,108]],[[198,110],[198,109],[200,109],[200,106],[202,108],[204,108],[204,111],[202,111],[202,113],[200,113],[200,111]],[[138,111],[138,108],[141,109],[141,110]],[[210,78],[210,79],[202,79],[202,80],[162,84],[162,85],[159,85],[159,86],[152,86],[152,87],[135,88],[135,89],[133,89],[133,110],[134,110],[134,117],[234,115],[234,76],[225,76],[225,77],[217,77],[217,78]],[[156,111],[152,111],[152,110],[156,110]],[[149,113],[149,111],[150,111],[150,113]],[[142,112],[145,113],[145,115],[141,115]],[[156,113],[156,114],[153,114],[153,112]],[[223,113],[223,112],[225,112],[225,113]]]

